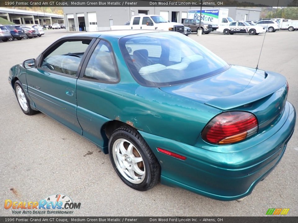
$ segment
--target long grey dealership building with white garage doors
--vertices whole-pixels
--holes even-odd
[[[142,2],[142,0],[138,1]],[[203,7],[203,9],[218,7]],[[259,20],[261,8],[228,8],[228,16],[236,20]],[[109,30],[111,25],[124,25],[134,15],[161,15],[166,20],[182,23],[187,10],[200,7],[63,7],[68,31]]]

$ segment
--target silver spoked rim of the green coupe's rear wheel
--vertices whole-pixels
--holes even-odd
[[[113,144],[113,159],[121,175],[131,183],[140,184],[145,179],[145,165],[138,149],[126,139]]]

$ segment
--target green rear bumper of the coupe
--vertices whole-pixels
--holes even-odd
[[[287,102],[282,118],[274,128],[268,130],[271,131],[269,138],[230,153],[209,151],[140,133],[160,162],[161,183],[228,201],[251,194],[256,184],[273,170],[294,132],[295,121],[295,108]],[[165,155],[158,152],[156,147],[186,156],[187,159],[183,161]]]

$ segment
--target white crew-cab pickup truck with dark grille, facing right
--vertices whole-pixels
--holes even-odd
[[[127,25],[113,25],[111,30],[118,29],[154,29],[169,30],[184,33],[184,25],[176,22],[169,22],[160,15],[135,15]]]

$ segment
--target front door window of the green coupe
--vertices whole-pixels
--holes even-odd
[[[91,39],[60,42],[44,55],[41,68],[75,77],[90,42]]]

